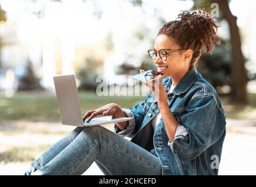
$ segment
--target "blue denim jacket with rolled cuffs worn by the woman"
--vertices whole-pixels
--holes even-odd
[[[133,117],[127,129],[115,133],[148,151],[154,150],[163,175],[217,175],[226,134],[226,114],[213,86],[193,67],[169,92],[171,78],[163,78],[172,114],[179,122],[171,142],[161,118],[153,131],[152,119],[160,111],[152,93],[134,108],[122,109]]]

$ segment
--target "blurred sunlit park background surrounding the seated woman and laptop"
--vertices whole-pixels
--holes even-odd
[[[0,174],[21,174],[30,161],[73,129],[60,123],[54,75],[76,75],[83,112],[110,102],[132,107],[143,97],[95,95],[97,76],[103,75],[109,84],[124,85],[128,75],[155,68],[147,50],[161,26],[176,19],[181,10],[200,7],[210,13],[211,3],[0,0]],[[251,0],[229,1],[241,36],[235,40],[241,41],[247,101],[232,96],[237,89],[232,87],[234,54],[230,25],[221,10],[216,19],[222,44],[212,56],[202,57],[197,67],[220,94],[227,113],[229,149],[224,150],[221,174],[256,174],[248,169],[256,166],[255,146],[250,147],[256,143],[255,6]],[[241,155],[230,161],[237,148],[232,142],[240,141],[248,141],[250,148],[238,151]],[[233,165],[237,158],[246,160],[247,168]],[[92,168],[87,174],[98,172]]]

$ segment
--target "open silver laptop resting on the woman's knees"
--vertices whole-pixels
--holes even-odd
[[[112,119],[112,116],[104,116],[94,117],[90,120],[90,122],[83,122],[76,79],[74,75],[57,75],[53,77],[53,81],[62,124],[85,127],[115,122],[125,122],[132,119],[132,117],[117,117]]]

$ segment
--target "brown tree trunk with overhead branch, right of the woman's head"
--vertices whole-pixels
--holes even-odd
[[[207,12],[212,11],[211,4],[216,3],[220,9],[220,19],[225,19],[230,31],[231,44],[231,101],[233,103],[243,104],[248,103],[247,98],[247,71],[245,70],[245,58],[241,50],[241,36],[237,26],[237,17],[234,16],[229,8],[228,0],[194,0],[193,8],[203,7]],[[216,63],[216,62],[215,62]]]

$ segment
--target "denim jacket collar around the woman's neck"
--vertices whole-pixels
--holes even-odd
[[[197,77],[198,77],[197,69],[195,66],[193,66],[187,72],[187,74],[180,80],[178,85],[175,86],[175,88],[173,89],[173,93],[175,93],[175,95],[180,95],[181,93],[186,92],[187,89],[189,89],[190,86],[192,86],[194,81],[196,81]],[[170,85],[172,85],[172,78],[169,78],[169,81],[167,81],[166,85],[164,85],[166,91],[168,91],[168,94],[170,94],[169,93]]]

